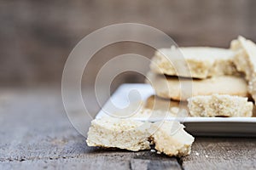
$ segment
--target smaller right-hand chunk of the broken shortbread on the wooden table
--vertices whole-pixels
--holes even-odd
[[[184,131],[179,122],[155,122],[159,127],[153,134],[155,149],[167,156],[187,156],[190,154],[194,137]]]

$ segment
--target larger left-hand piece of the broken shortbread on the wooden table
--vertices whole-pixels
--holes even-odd
[[[115,147],[125,150],[149,150],[151,123],[131,119],[104,117],[91,122],[86,140],[89,146]]]

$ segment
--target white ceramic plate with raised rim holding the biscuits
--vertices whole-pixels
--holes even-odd
[[[111,101],[113,105],[124,108],[130,102],[146,100],[152,94],[154,89],[148,84],[123,84],[108,99],[96,118],[107,115],[104,108],[111,111],[109,110]],[[146,121],[143,118],[137,119]],[[186,131],[196,136],[256,136],[256,117],[186,117],[182,122]]]

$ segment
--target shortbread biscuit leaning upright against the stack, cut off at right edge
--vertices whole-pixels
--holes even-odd
[[[245,73],[248,92],[256,101],[256,44],[244,37],[238,37],[231,42],[230,48],[236,52],[234,63],[238,71]]]

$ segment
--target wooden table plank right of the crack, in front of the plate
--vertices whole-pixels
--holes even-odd
[[[195,138],[184,169],[255,169],[256,138]]]

